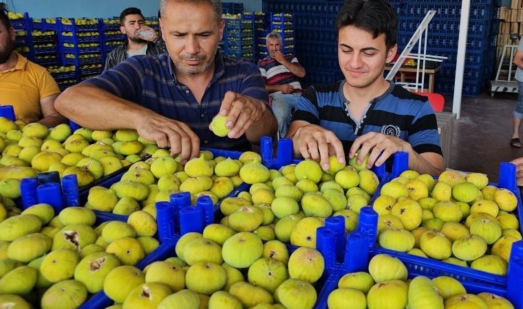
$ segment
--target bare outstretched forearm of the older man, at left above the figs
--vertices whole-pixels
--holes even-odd
[[[138,117],[150,112],[90,84],[77,84],[66,89],[54,104],[59,113],[93,130],[136,129]]]

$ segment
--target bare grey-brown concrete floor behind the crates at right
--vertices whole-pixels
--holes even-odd
[[[491,98],[486,91],[462,99],[461,117],[453,126],[449,168],[482,172],[498,182],[499,163],[523,156],[523,148],[509,145],[516,99],[515,93],[495,93]],[[445,97],[444,111],[452,111],[452,100]]]

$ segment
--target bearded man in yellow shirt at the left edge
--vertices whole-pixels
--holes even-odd
[[[12,105],[23,122],[56,126],[67,120],[54,109],[59,93],[46,69],[14,51],[14,28],[0,3],[0,105]]]

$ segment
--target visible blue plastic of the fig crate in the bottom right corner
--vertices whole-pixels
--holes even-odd
[[[372,214],[373,212],[372,208],[365,207],[362,209],[361,220],[377,222],[377,214],[375,212]],[[409,279],[418,276],[430,279],[438,276],[453,277],[461,282],[467,293],[493,293],[509,299],[516,309],[523,308],[523,295],[520,292],[520,286],[523,284],[523,240],[513,244],[508,275],[502,282],[491,282],[491,278],[484,277],[484,273],[480,271],[453,264],[436,263],[434,260],[420,258],[416,255],[373,247],[372,242],[369,241],[371,238],[372,236],[369,237],[367,231],[364,230],[351,233],[347,237],[344,261],[331,269],[314,309],[327,309],[328,297],[338,287],[339,279],[346,273],[367,272],[370,259],[378,254],[391,255],[401,260],[407,267]]]

